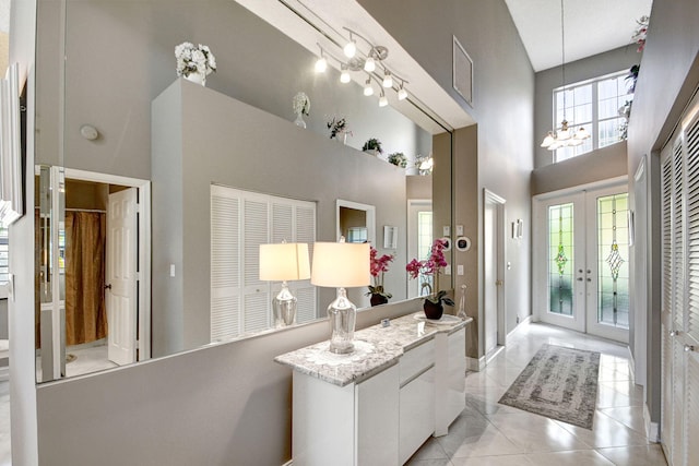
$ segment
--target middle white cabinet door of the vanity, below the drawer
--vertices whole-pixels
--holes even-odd
[[[405,463],[435,431],[435,368],[401,389],[400,464]]]

